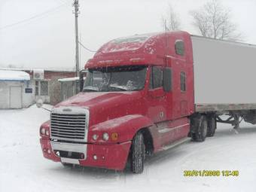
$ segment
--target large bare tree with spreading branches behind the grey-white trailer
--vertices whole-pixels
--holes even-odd
[[[202,8],[191,11],[194,26],[201,35],[209,38],[242,41],[242,34],[238,32],[236,24],[231,21],[230,9],[224,8],[218,0],[211,0]]]

